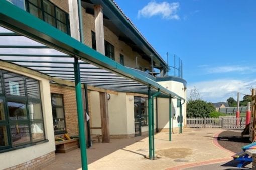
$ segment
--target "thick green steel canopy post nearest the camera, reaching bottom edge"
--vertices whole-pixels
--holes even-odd
[[[78,58],[75,57],[74,63],[75,71],[75,88],[76,88],[76,106],[77,106],[77,117],[78,117],[78,127],[79,127],[79,141],[80,141],[80,152],[82,169],[88,169],[87,165],[87,155],[86,155],[86,139],[84,131],[84,116],[83,116],[83,102],[82,102],[82,90],[81,90],[81,79],[80,79],[80,67],[78,63]]]

